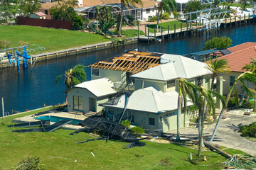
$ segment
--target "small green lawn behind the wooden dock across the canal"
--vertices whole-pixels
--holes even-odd
[[[176,25],[176,30],[177,30],[181,28],[181,24],[182,24],[182,28],[186,28],[186,22],[181,22],[181,21],[169,21],[165,23],[159,23],[159,27],[162,27],[163,31],[168,30],[168,26],[170,30],[174,30],[174,25]],[[150,24],[147,27],[149,28],[149,31],[151,33],[154,33],[154,28],[156,28],[156,24]],[[160,28],[159,28],[159,31],[160,31]]]

